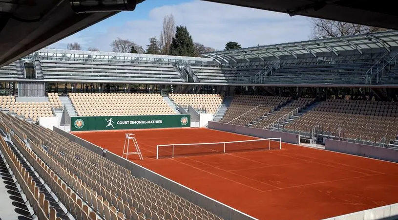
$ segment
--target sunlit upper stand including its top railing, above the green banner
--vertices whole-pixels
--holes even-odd
[[[177,66],[180,61],[209,62],[211,59],[165,55],[89,52],[42,49],[35,56],[35,68],[44,80],[186,82]]]

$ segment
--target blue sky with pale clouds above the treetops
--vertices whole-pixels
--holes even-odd
[[[202,0],[146,0],[131,12],[121,12],[48,46],[66,49],[77,42],[82,49],[111,51],[116,38],[144,47],[159,39],[163,18],[173,14],[176,25],[187,26],[193,41],[223,50],[229,41],[242,47],[305,41],[311,34],[309,19],[302,16],[238,7]]]

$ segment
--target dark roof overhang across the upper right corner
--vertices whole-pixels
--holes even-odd
[[[391,0],[206,0],[314,18],[398,30]]]

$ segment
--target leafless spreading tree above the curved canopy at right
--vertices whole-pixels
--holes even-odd
[[[366,34],[387,30],[380,27],[372,27],[361,24],[338,22],[317,18],[311,18],[310,22],[312,23],[313,28],[310,38],[313,40],[356,34]]]

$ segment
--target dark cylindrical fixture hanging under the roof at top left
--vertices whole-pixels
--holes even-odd
[[[76,13],[134,11],[137,0],[70,0]]]

